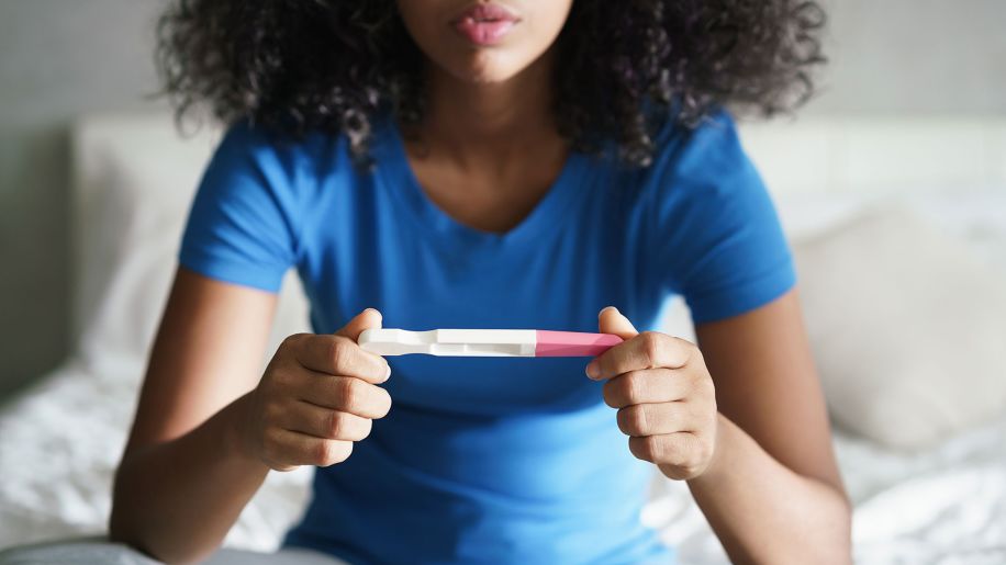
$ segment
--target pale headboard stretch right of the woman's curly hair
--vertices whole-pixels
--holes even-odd
[[[1006,116],[782,118],[741,137],[775,194],[1006,187]]]

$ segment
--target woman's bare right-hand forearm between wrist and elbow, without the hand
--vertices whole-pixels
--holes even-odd
[[[849,563],[850,508],[836,488],[778,462],[718,417],[716,454],[692,495],[735,563]]]

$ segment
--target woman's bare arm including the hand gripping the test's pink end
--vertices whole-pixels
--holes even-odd
[[[602,312],[601,331],[626,341],[589,374],[608,378],[629,449],[689,482],[731,561],[849,563],[850,509],[796,292],[696,330],[701,350]]]

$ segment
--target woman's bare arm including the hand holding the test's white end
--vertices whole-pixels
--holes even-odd
[[[356,344],[379,313],[287,338],[262,374],[275,308],[271,293],[179,269],[115,475],[113,540],[202,558],[270,468],[339,463],[388,414],[389,365]]]

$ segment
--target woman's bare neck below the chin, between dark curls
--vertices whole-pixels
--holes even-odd
[[[418,137],[465,168],[526,157],[529,148],[561,142],[552,110],[551,50],[501,83],[458,80],[431,65]]]

